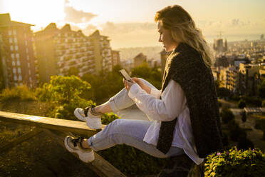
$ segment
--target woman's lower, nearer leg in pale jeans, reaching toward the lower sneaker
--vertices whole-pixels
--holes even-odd
[[[88,138],[85,143],[88,143],[89,147],[94,151],[124,143],[157,158],[167,158],[184,153],[182,148],[171,147],[170,151],[165,155],[156,146],[144,142],[143,138],[151,123],[151,121],[143,120],[116,119],[108,124],[103,131]]]

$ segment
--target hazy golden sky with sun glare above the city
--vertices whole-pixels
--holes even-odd
[[[58,28],[71,24],[86,35],[99,29],[118,49],[160,46],[155,12],[174,4],[189,12],[208,42],[218,38],[220,31],[227,41],[254,40],[265,34],[264,0],[0,0],[0,14],[34,24],[33,31],[51,22]]]

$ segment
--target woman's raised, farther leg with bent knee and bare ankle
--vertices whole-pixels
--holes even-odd
[[[145,79],[141,79],[147,86],[151,88],[155,88],[152,84]],[[128,96],[128,91],[123,88],[119,93],[115,94],[115,96],[111,97],[107,102],[101,104],[100,106],[95,107],[95,112],[100,113],[108,113],[115,112],[117,113],[124,108],[128,108],[132,106],[135,102]]]

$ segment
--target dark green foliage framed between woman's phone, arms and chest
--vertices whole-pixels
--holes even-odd
[[[157,89],[160,89],[162,86],[161,71],[159,71],[157,68],[151,69],[147,63],[132,69],[131,75],[132,77],[138,77],[149,81]]]

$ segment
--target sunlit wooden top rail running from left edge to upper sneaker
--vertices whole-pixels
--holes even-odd
[[[100,130],[88,128],[85,122],[71,121],[60,118],[48,118],[42,116],[31,116],[21,113],[9,113],[0,111],[0,121],[10,121],[14,123],[37,126],[40,128],[48,128],[58,131],[73,132],[78,135],[93,136]],[[102,126],[105,128],[105,125]]]

